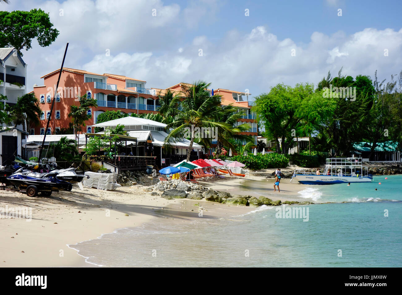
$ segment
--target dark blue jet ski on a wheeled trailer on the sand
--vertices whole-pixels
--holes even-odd
[[[71,191],[72,184],[57,179],[57,172],[38,173],[22,167],[7,177],[15,187],[26,190],[29,197],[35,197],[38,192],[42,195],[51,195],[52,191],[64,189]]]

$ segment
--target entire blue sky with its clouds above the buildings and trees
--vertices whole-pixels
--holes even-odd
[[[316,85],[329,70],[336,75],[341,67],[353,77],[373,77],[375,70],[380,79],[398,74],[401,6],[400,1],[372,0],[0,4],[6,10],[41,8],[60,31],[49,47],[33,42],[24,51],[29,87],[42,85],[39,77],[59,67],[70,42],[66,67],[135,77],[146,80],[148,88],[202,79],[215,89],[248,89],[253,96],[277,83]]]

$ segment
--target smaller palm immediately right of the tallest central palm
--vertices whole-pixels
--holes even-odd
[[[224,106],[222,108],[220,121],[228,124],[229,126],[231,126],[231,128],[229,130],[218,128],[216,155],[219,155],[221,153],[224,146],[228,147],[228,150],[232,149],[232,151],[236,151],[236,147],[232,143],[233,141],[230,139],[238,140],[240,142],[246,141],[252,143],[252,138],[250,136],[240,133],[250,130],[250,125],[248,125],[247,123],[243,123],[236,126],[236,123],[240,118],[242,118],[242,116],[243,112],[238,112],[238,108],[236,108],[232,104]]]

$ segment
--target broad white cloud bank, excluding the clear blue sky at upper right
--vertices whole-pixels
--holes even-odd
[[[23,6],[11,2],[10,10],[41,7],[60,31],[51,46],[43,48],[33,42],[33,48],[24,51],[28,85],[40,85],[41,75],[60,66],[67,41],[66,67],[127,75],[157,88],[203,79],[215,89],[249,89],[258,95],[281,82],[316,85],[328,70],[336,75],[342,66],[343,73],[352,76],[373,76],[377,69],[379,78],[401,70],[402,29],[366,28],[352,35],[317,31],[308,43],[300,43],[278,39],[266,26],[255,26],[247,34],[232,29],[213,39],[210,32],[189,39],[194,31],[186,27],[184,14],[196,7],[192,3],[205,7],[199,12],[201,17],[191,20],[194,25],[219,9],[214,0],[195,1],[187,7],[161,0],[33,0]],[[59,9],[64,9],[64,16],[59,16]],[[152,9],[157,16],[152,16]],[[106,49],[110,56],[105,55]],[[292,49],[295,56],[291,56]]]

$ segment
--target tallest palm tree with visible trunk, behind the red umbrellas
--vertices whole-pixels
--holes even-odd
[[[187,150],[187,161],[190,161],[191,150],[195,139],[195,128],[219,128],[228,131],[231,126],[219,122],[222,114],[221,96],[210,96],[207,88],[211,85],[203,81],[198,81],[193,85],[182,83],[180,96],[184,98],[180,102],[182,110],[177,109],[175,120],[168,124],[167,130],[173,130],[166,136],[165,145],[171,146],[174,142],[190,138],[189,149]],[[173,112],[173,106],[168,109]]]

